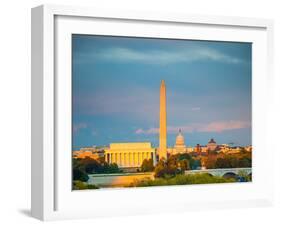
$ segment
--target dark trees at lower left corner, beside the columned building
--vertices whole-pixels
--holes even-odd
[[[93,173],[120,173],[116,163],[109,164],[103,158],[98,160],[86,157],[84,159],[72,159],[73,180],[88,181],[88,174]]]

